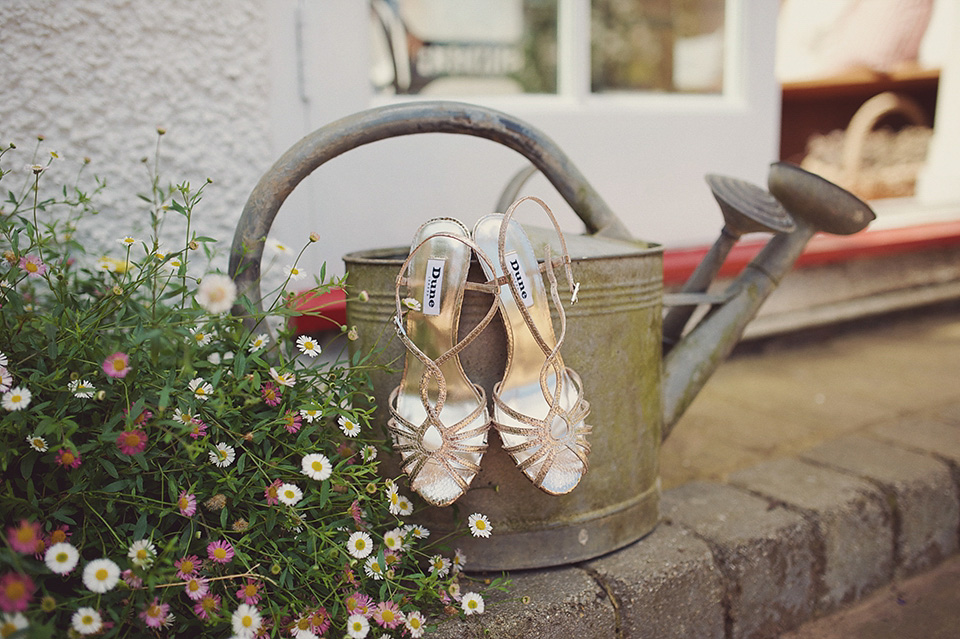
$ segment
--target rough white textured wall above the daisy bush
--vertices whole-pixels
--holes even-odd
[[[233,228],[268,152],[269,3],[258,0],[3,0],[0,4],[0,143],[18,171],[0,191],[22,183],[38,135],[51,189],[72,183],[83,158],[107,181],[102,216],[86,229],[113,241],[148,230],[150,189],[142,158],[153,162],[158,127],[161,183],[206,178],[194,227],[219,240],[226,265]],[[176,248],[178,220],[164,229]],[[93,227],[93,228],[91,228]]]

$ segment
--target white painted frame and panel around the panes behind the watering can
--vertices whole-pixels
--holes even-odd
[[[722,219],[703,176],[723,173],[763,185],[778,156],[778,3],[727,0],[723,91],[690,95],[592,94],[589,29],[580,28],[589,25],[589,0],[558,1],[558,93],[460,100],[510,113],[553,138],[636,237],[668,247],[711,242]],[[428,99],[374,95],[362,0],[275,0],[271,24],[275,155],[340,117]],[[351,215],[362,221],[344,223],[340,236],[322,247],[330,265],[339,266],[342,249],[402,245],[434,215],[472,223],[525,164],[487,141],[412,137],[422,139],[381,142],[376,153],[352,152],[321,167],[285,206],[295,212],[282,211],[275,228],[281,236],[295,233],[304,218],[325,227],[337,212],[356,207],[359,213]],[[505,160],[504,152],[516,159]],[[530,192],[556,204],[565,228],[582,229],[552,187],[538,180]],[[381,219],[371,225],[375,215]]]

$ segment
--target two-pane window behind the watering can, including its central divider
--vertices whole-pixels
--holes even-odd
[[[587,20],[572,19],[585,7],[572,0],[370,0],[374,90],[555,94],[583,84],[592,93],[721,92],[724,0],[592,0]],[[578,78],[580,69],[589,78]]]

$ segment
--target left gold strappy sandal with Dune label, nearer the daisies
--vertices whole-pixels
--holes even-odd
[[[495,293],[467,282],[471,251],[479,249],[463,224],[430,220],[417,231],[396,281],[397,335],[407,357],[400,385],[390,395],[387,427],[411,488],[435,506],[466,492],[480,470],[490,429],[486,395],[467,379],[458,353],[493,319],[496,296],[477,327],[455,343],[464,290]]]

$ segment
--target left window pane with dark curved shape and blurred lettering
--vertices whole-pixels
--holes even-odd
[[[557,0],[370,0],[375,90],[555,93]]]

